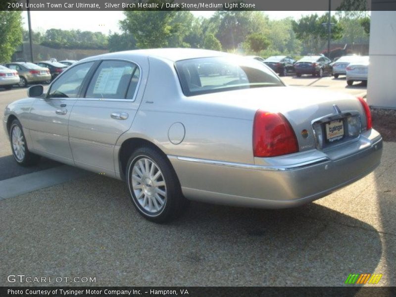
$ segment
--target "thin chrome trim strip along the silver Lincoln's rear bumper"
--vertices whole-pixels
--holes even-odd
[[[216,161],[216,160],[208,160],[208,159],[181,157],[181,156],[174,156],[174,155],[168,155],[168,158],[169,159],[177,159],[180,161],[200,163],[200,164],[228,166],[228,167],[234,167],[234,168],[265,170],[265,171],[294,170],[294,169],[298,169],[300,167],[314,165],[314,164],[325,162],[325,161],[329,160],[329,158],[327,158],[327,157],[322,157],[322,158],[315,159],[312,161],[297,163],[297,164],[290,165],[290,166],[265,166],[265,165],[243,164],[243,163],[233,163],[233,162],[226,162],[226,161]]]

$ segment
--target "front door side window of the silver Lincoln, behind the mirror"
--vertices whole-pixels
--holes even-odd
[[[64,72],[51,86],[48,98],[76,98],[94,62],[74,66]]]

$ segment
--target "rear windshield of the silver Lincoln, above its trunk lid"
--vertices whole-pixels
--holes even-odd
[[[254,59],[197,58],[178,61],[175,66],[186,96],[284,86],[276,74]]]

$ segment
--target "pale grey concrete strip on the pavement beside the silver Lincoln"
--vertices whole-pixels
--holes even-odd
[[[91,174],[86,170],[62,165],[0,181],[0,200],[58,185]]]

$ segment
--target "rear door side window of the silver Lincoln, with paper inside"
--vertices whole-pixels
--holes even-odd
[[[139,67],[125,61],[103,61],[88,86],[85,98],[133,99]]]

